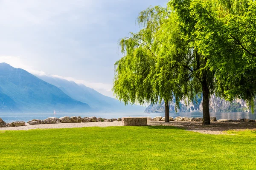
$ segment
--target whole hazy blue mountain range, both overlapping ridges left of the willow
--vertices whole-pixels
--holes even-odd
[[[125,106],[92,88],[53,77],[36,77],[0,63],[0,113],[144,111],[142,106]]]

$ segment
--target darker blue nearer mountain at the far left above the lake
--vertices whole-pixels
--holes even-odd
[[[29,72],[0,63],[0,112],[87,112],[88,104]]]

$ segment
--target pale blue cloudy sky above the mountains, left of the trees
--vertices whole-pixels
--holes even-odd
[[[0,62],[82,83],[113,97],[118,40],[168,0],[0,0]]]

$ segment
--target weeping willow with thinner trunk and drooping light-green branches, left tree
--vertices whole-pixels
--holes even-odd
[[[165,122],[169,122],[172,86],[168,84],[168,79],[162,79],[158,83],[154,79],[157,75],[157,60],[161,55],[161,42],[157,34],[168,15],[169,11],[160,6],[150,7],[140,13],[137,22],[142,29],[119,41],[124,57],[115,63],[113,79],[113,92],[125,104],[156,103],[164,99]]]

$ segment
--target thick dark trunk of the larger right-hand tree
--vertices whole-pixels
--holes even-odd
[[[203,79],[202,83],[203,90],[203,125],[210,125],[210,112],[209,112],[209,87],[207,85],[207,80]]]

